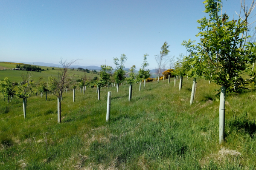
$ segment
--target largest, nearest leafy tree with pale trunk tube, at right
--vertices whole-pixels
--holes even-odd
[[[221,0],[206,0],[205,11],[209,14],[198,20],[201,37],[198,43],[198,51],[201,52],[206,62],[204,78],[212,79],[220,90],[219,108],[219,142],[224,141],[225,127],[225,100],[226,92],[237,92],[247,89],[247,85],[255,81],[255,73],[252,71],[251,63],[255,61],[250,49],[253,44],[246,45],[248,31],[248,17],[255,7],[252,2],[249,9],[241,1],[241,13],[237,20],[230,20],[227,14],[222,14]],[[242,18],[243,16],[243,18]]]

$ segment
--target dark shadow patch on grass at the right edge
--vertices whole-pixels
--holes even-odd
[[[256,133],[256,122],[249,120],[247,113],[241,116],[234,116],[229,122],[231,130],[237,130],[239,132],[248,133],[251,137],[254,137]]]

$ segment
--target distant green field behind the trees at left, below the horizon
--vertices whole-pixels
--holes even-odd
[[[32,74],[32,79],[35,80],[36,82],[38,82],[39,77],[43,77],[43,81],[47,81],[47,78],[49,76],[53,76],[53,77],[58,77],[58,70],[46,70],[46,71],[42,71],[40,72],[35,72],[33,71]],[[16,81],[19,82],[21,81],[21,74],[27,74],[29,73],[29,71],[18,71],[18,70],[5,70],[5,71],[0,71],[0,80],[3,80],[5,77],[8,77],[10,79],[10,81]],[[84,77],[84,72],[82,71],[68,71],[68,73],[71,75],[74,74],[74,77],[76,79],[82,78]],[[91,73],[86,73],[87,78],[92,78],[93,77],[99,77],[99,75],[97,74],[91,74]]]

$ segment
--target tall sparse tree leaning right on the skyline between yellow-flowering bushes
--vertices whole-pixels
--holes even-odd
[[[160,54],[159,55],[155,55],[154,58],[157,62],[157,71],[158,71],[158,80],[159,80],[159,77],[160,77],[160,73],[161,73],[161,68],[163,65],[165,65],[167,59],[168,59],[168,53],[170,52],[169,51],[169,46],[167,42],[164,42],[163,43],[163,46],[161,47],[161,51],[160,51]]]

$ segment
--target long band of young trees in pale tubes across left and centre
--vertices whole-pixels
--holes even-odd
[[[76,60],[72,60],[71,62],[66,61],[60,61],[60,64],[62,65],[62,68],[58,70],[58,77],[48,77],[47,82],[42,81],[42,77],[39,78],[39,83],[36,85],[35,81],[31,79],[32,77],[32,71],[28,72],[26,75],[21,75],[22,81],[20,81],[17,84],[17,88],[15,88],[14,84],[9,81],[9,78],[5,78],[3,81],[0,81],[0,91],[2,92],[4,96],[4,100],[7,99],[8,102],[12,100],[13,96],[17,96],[21,99],[23,99],[23,113],[24,118],[26,118],[26,102],[29,96],[32,96],[32,94],[35,94],[38,96],[38,94],[42,95],[45,94],[46,101],[47,101],[47,94],[53,94],[57,97],[57,103],[58,103],[58,123],[61,122],[61,101],[62,101],[62,94],[64,92],[67,93],[67,89],[70,88],[70,86],[73,89],[73,102],[75,102],[75,89],[77,87],[80,88],[80,91],[83,93],[86,90],[87,86],[90,87],[97,87],[97,93],[98,93],[98,99],[100,99],[100,89],[104,86],[109,87],[109,84],[113,84],[111,82],[111,76],[114,77],[114,80],[117,87],[117,92],[119,89],[119,85],[126,81],[130,85],[130,92],[129,92],[129,101],[131,100],[131,91],[132,91],[132,84],[135,82],[141,82],[143,79],[147,79],[150,74],[149,70],[145,70],[145,67],[148,66],[147,63],[147,56],[148,54],[144,55],[144,62],[143,62],[143,68],[140,69],[139,74],[135,75],[135,65],[131,67],[129,70],[129,76],[126,76],[126,72],[124,70],[124,63],[127,60],[127,57],[125,54],[122,54],[120,59],[114,58],[114,63],[116,65],[116,69],[113,74],[111,72],[113,71],[113,68],[108,65],[101,65],[101,71],[99,74],[99,78],[93,79],[93,81],[89,81],[86,79],[86,76],[84,78],[79,79],[78,81],[73,81],[73,76],[68,74],[68,68],[71,64],[73,64]],[[145,81],[144,81],[145,82]],[[145,83],[144,83],[145,87]]]

